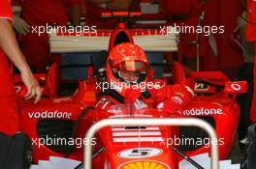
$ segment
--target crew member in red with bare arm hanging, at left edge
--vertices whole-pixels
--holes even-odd
[[[10,22],[12,11],[10,0],[0,0],[0,132],[13,135],[19,130],[16,93],[12,61],[20,70],[22,80],[28,88],[27,99],[41,97],[41,88],[33,77],[24,56],[16,43]]]

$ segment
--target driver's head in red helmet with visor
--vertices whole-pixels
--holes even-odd
[[[139,84],[145,82],[149,63],[144,50],[132,42],[117,44],[110,51],[107,60],[107,77],[109,83],[121,86],[123,84]],[[112,84],[110,84],[112,85]],[[125,86],[115,88],[121,96],[125,95]]]

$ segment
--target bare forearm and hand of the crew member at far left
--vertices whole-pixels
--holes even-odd
[[[0,47],[5,52],[7,57],[20,70],[21,78],[24,85],[27,87],[26,99],[35,97],[35,103],[41,98],[41,88],[34,78],[26,60],[19,50],[16,42],[16,36],[9,20],[0,18]]]

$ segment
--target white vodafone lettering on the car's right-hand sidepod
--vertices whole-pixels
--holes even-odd
[[[223,110],[221,108],[192,108],[190,110],[183,110],[185,116],[200,116],[200,115],[221,115]]]

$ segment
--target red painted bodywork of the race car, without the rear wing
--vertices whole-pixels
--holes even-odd
[[[121,30],[124,28],[121,28]],[[113,31],[116,35],[118,29]],[[125,30],[124,32],[128,32]],[[128,36],[129,37],[129,36]],[[130,37],[129,37],[130,38]],[[110,44],[112,45],[114,36]],[[110,46],[111,48],[112,46]],[[54,76],[54,73],[53,73]],[[57,75],[55,75],[57,76]],[[51,78],[51,77],[48,77]],[[240,118],[240,105],[235,98],[237,93],[245,90],[244,82],[234,82],[235,86],[240,86],[240,90],[230,88],[233,83],[228,77],[220,71],[193,72],[189,78],[185,77],[183,67],[176,63],[173,70],[173,82],[190,86],[194,89],[196,97],[183,108],[180,114],[170,115],[158,109],[143,109],[133,112],[132,118],[189,118],[198,117],[208,121],[215,128],[219,138],[219,155],[221,159],[227,157],[233,145],[233,139]],[[57,82],[49,80],[46,84],[52,84],[56,89]],[[203,85],[200,85],[203,84]],[[225,88],[226,85],[226,88]],[[46,85],[48,86],[48,85]],[[234,86],[234,85],[233,85]],[[50,85],[48,86],[50,89]],[[96,104],[97,84],[96,78],[88,77],[85,81],[80,81],[78,91],[71,97],[56,97],[53,93],[48,99],[42,99],[38,104],[32,100],[20,102],[21,108],[21,128],[22,131],[34,142],[33,159],[37,162],[40,159],[48,159],[48,156],[64,156],[82,160],[82,145],[89,142],[96,142],[94,152],[101,148],[104,151],[93,158],[93,168],[127,168],[127,166],[137,165],[159,165],[162,168],[178,168],[178,162],[182,159],[172,150],[169,144],[170,140],[176,137],[187,137],[189,128],[181,127],[106,127],[101,129],[96,136],[96,140],[86,140],[84,134],[86,130],[95,122],[107,118],[127,117],[131,118],[129,109],[125,105],[116,105],[111,111],[102,109],[89,110],[80,120],[78,130],[74,135],[74,125],[77,122],[80,113],[88,106]],[[119,106],[119,107],[118,107]],[[191,127],[192,128],[192,127]],[[199,130],[197,130],[199,131]],[[148,133],[149,132],[149,133]],[[197,134],[197,132],[195,132]],[[145,135],[144,135],[145,134]],[[149,134],[149,135],[146,135]],[[199,135],[202,136],[202,135]],[[76,144],[67,150],[68,145],[59,145],[52,140],[57,138],[72,138],[78,140],[85,139],[83,144]],[[140,137],[140,138],[139,138]],[[39,140],[39,138],[41,138]],[[45,138],[44,140],[42,138]],[[46,142],[46,140],[51,141]],[[202,139],[207,138],[203,134]],[[186,155],[199,155],[209,152],[208,142],[198,147],[187,149]],[[63,142],[62,142],[63,144]],[[71,142],[74,144],[74,142]],[[182,147],[184,145],[180,145]],[[122,151],[129,152],[130,155],[139,155],[140,157],[127,157],[122,155]],[[147,152],[142,152],[146,149]],[[149,152],[148,152],[149,150]],[[151,152],[159,151],[155,155]],[[129,155],[128,155],[129,156]]]

